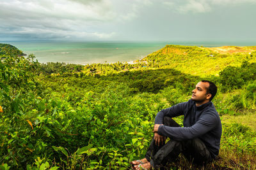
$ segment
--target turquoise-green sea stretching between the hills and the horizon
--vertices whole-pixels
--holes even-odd
[[[26,54],[33,53],[38,62],[67,62],[74,64],[129,62],[155,52],[165,45],[195,46],[253,46],[248,42],[63,42],[63,41],[0,41],[9,43]]]

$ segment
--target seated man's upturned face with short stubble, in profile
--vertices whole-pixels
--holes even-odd
[[[209,88],[208,82],[202,82],[196,84],[196,88],[192,90],[191,99],[198,103],[203,103],[205,100],[211,98],[211,94],[207,94],[207,89]]]

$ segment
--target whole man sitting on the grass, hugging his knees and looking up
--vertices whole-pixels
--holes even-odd
[[[216,92],[214,83],[202,80],[188,102],[159,111],[145,158],[132,161],[132,168],[157,169],[177,159],[180,153],[197,164],[213,160],[219,154],[222,132],[220,117],[211,102]],[[172,120],[179,115],[184,115],[184,127]],[[166,137],[170,138],[167,143]]]

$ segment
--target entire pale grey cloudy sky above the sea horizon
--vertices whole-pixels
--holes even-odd
[[[1,0],[0,41],[256,41],[256,0]]]

